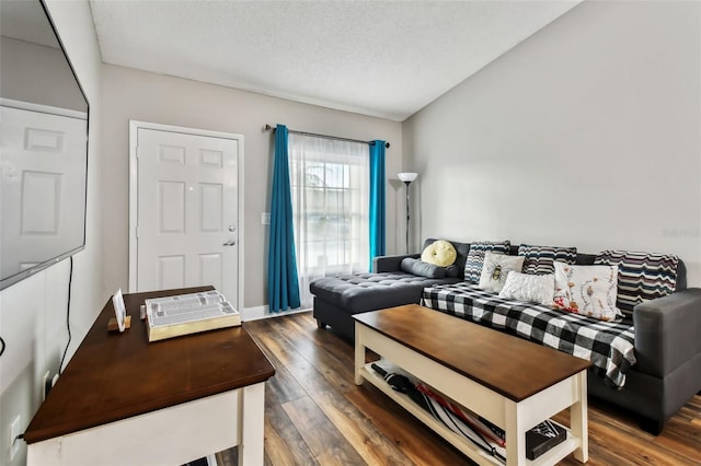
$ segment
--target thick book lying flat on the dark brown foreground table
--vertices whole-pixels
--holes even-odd
[[[149,341],[241,325],[241,315],[218,291],[146,300]]]

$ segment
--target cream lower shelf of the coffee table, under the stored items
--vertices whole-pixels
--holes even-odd
[[[409,396],[392,389],[392,387],[390,387],[390,385],[382,377],[380,377],[375,373],[375,371],[372,371],[370,364],[366,364],[360,370],[360,374],[363,375],[363,378],[375,385],[382,393],[384,393],[384,395],[397,401],[402,408],[406,409],[416,419],[428,426],[434,430],[434,432],[446,439],[452,446],[460,450],[463,454],[472,458],[474,462],[486,465],[504,464],[499,459],[489,455],[486,452],[470,443],[470,441],[448,429],[443,422],[436,420],[433,416],[426,412],[426,410],[414,403]],[[564,442],[553,446],[535,461],[526,459],[526,464],[555,464],[567,456],[570,453],[574,452],[577,446],[579,446],[579,442],[577,439],[572,436],[572,432],[570,431],[570,429],[564,426],[563,428],[567,431],[567,439]]]

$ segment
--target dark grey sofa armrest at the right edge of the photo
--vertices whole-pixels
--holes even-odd
[[[688,288],[633,310],[637,371],[664,377],[701,353],[701,288]]]

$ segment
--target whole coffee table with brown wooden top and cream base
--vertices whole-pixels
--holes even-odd
[[[376,385],[473,461],[501,464],[394,392],[366,364],[366,348],[504,429],[507,465],[588,459],[589,361],[416,304],[353,317],[355,383]],[[527,459],[526,431],[567,408],[567,440]]]

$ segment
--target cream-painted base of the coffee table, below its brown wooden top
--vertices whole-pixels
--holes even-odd
[[[383,311],[378,312],[382,313]],[[366,314],[360,314],[360,316],[368,318]],[[356,319],[359,321],[358,317]],[[436,433],[481,465],[501,465],[503,463],[486,454],[470,441],[450,431],[405,395],[394,392],[383,378],[375,374],[369,364],[366,364],[366,349],[372,350],[381,358],[391,361],[401,370],[434,387],[457,404],[504,429],[507,438],[507,466],[555,465],[573,452],[574,457],[581,463],[587,462],[586,369],[577,371],[560,382],[553,382],[549,387],[520,401],[515,401],[472,380],[467,374],[453,371],[444,363],[422,354],[405,342],[390,338],[380,330],[361,322],[356,322],[356,385],[361,385],[364,381],[368,381],[377,386],[387,396],[399,403]],[[526,457],[526,431],[564,409],[570,410],[567,439],[538,458],[528,459]],[[509,441],[508,439],[512,440]]]

